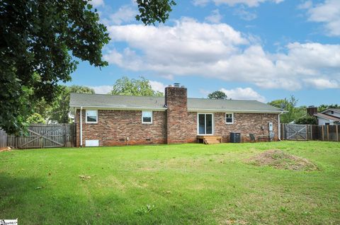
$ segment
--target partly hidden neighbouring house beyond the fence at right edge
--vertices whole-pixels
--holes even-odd
[[[338,125],[340,124],[340,109],[329,108],[322,113],[317,113],[317,108],[312,105],[307,108],[307,114],[317,117],[318,125]]]

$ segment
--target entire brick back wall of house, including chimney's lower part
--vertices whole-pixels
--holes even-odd
[[[142,111],[98,110],[98,123],[86,124],[85,111],[82,113],[83,146],[86,139],[99,140],[100,146],[196,142],[197,113],[189,112],[183,116],[177,112],[154,111],[152,125],[145,125],[142,124]],[[77,110],[77,146],[80,145],[79,112],[80,110]],[[170,120],[166,120],[167,114]],[[241,132],[244,142],[249,141],[249,133],[268,134],[268,122],[273,122],[275,139],[278,139],[277,114],[234,113],[234,124],[226,125],[225,113],[214,113],[214,120],[215,135],[222,136],[222,142],[229,142],[230,132]],[[166,122],[169,122],[170,126],[168,132]],[[129,141],[127,137],[130,138]]]

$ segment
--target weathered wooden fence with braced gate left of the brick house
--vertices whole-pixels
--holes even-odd
[[[8,135],[7,146],[16,149],[54,148],[75,145],[75,125],[30,125],[27,136]]]

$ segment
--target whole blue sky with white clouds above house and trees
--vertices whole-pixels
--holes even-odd
[[[107,93],[121,76],[171,83],[188,96],[221,90],[232,99],[298,105],[340,103],[340,1],[176,1],[165,24],[135,21],[134,1],[93,0],[111,36],[109,66],[80,62],[72,82]]]

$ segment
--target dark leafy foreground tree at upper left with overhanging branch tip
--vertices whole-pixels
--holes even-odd
[[[174,1],[137,1],[145,24],[164,22]],[[71,80],[77,58],[104,67],[109,41],[88,0],[0,1],[0,127],[21,133],[34,103],[50,102],[58,82]]]

